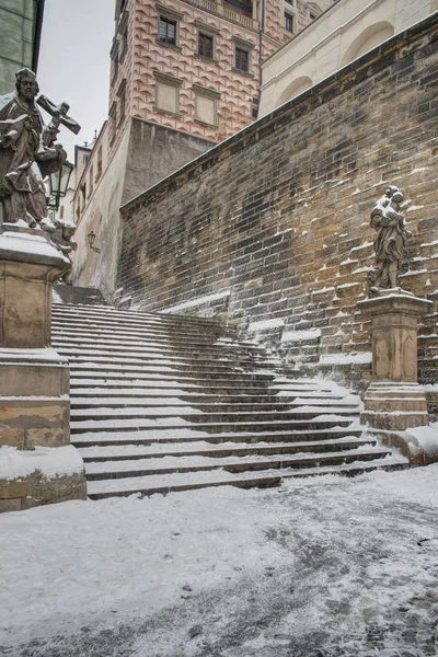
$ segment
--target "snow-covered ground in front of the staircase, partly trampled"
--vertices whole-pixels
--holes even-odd
[[[438,655],[438,464],[0,517],[1,657]]]

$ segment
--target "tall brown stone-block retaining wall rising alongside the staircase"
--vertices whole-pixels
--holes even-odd
[[[228,316],[243,326],[277,319],[270,339],[291,360],[360,360],[370,349],[356,310],[373,260],[369,216],[393,183],[413,232],[401,285],[436,308],[419,330],[419,377],[437,382],[437,22],[365,55],[126,209],[125,293],[159,310],[230,290]],[[309,330],[310,339],[280,342]],[[369,365],[356,370],[362,378]]]

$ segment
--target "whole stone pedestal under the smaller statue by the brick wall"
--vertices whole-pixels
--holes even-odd
[[[391,290],[358,303],[372,322],[372,382],[361,414],[371,428],[401,431],[429,422],[417,382],[417,325],[431,307],[431,301]]]

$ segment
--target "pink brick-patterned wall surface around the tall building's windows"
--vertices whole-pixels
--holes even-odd
[[[201,0],[199,0],[200,2]],[[197,7],[184,0],[162,0],[169,10],[182,14],[178,22],[177,47],[158,42],[159,9],[152,0],[130,0],[128,49],[125,59],[118,65],[112,62],[110,108],[118,104],[117,90],[124,78],[127,79],[126,116],[158,123],[161,126],[189,132],[203,139],[222,141],[254,120],[258,97],[260,61],[273,55],[290,34],[283,28],[284,0],[267,0],[265,33],[262,36],[262,54],[256,30],[250,30],[238,22],[227,20],[214,11]],[[212,5],[216,7],[216,5]],[[310,10],[293,0],[298,30],[310,22]],[[237,10],[238,11],[238,10]],[[237,14],[234,14],[237,15]],[[218,31],[214,61],[197,57],[198,26],[195,21]],[[251,74],[234,69],[234,41],[239,37],[252,44]],[[122,50],[122,37],[116,35]],[[262,55],[262,57],[261,57]],[[155,77],[160,72],[182,80],[180,89],[178,116],[157,111]],[[195,120],[195,90],[198,84],[220,93],[218,99],[218,126],[209,126]],[[119,117],[117,116],[117,125]],[[119,126],[111,143],[111,152],[116,150],[123,134]],[[111,157],[110,157],[111,159]]]

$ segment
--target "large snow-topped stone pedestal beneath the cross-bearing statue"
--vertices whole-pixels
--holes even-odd
[[[70,266],[42,230],[0,230],[0,511],[85,497],[69,365],[50,347],[53,284]]]

